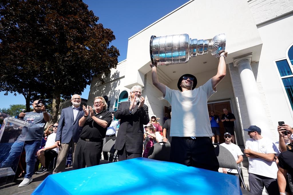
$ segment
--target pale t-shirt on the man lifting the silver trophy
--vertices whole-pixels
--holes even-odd
[[[170,136],[212,137],[207,100],[214,93],[212,79],[198,88],[184,92],[166,86],[164,98],[172,106]]]

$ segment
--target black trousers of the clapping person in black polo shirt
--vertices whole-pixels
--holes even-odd
[[[91,167],[100,163],[103,139],[100,141],[84,141],[79,138],[73,161],[73,169]]]

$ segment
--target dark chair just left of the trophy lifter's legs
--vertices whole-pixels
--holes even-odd
[[[149,150],[148,158],[158,161],[169,161],[170,160],[171,144],[167,142],[158,142],[154,144]]]

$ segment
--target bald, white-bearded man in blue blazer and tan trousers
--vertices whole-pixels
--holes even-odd
[[[84,115],[84,111],[80,106],[80,96],[77,94],[73,95],[71,97],[71,102],[72,106],[64,108],[61,111],[55,139],[59,152],[53,174],[65,171],[67,154],[70,148],[72,150],[72,159],[74,159],[74,149],[82,130],[82,127],[78,125],[79,119]]]

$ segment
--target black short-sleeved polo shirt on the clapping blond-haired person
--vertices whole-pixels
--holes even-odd
[[[112,113],[106,110],[100,111],[95,115],[98,119],[108,122],[108,126],[103,128],[98,125],[89,115],[84,123],[84,127],[80,133],[82,139],[103,139],[106,136],[107,128],[112,122]]]

